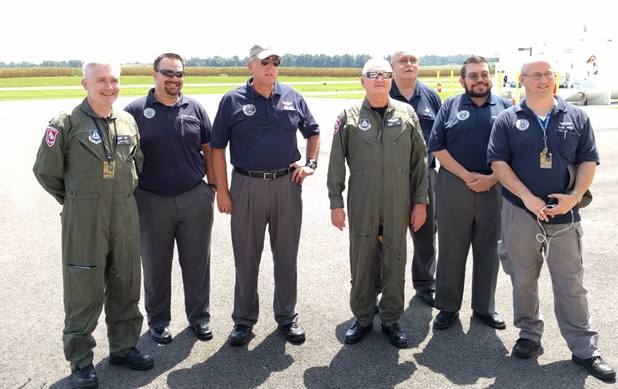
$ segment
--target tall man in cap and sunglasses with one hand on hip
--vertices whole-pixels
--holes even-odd
[[[255,45],[245,86],[226,93],[215,116],[213,166],[219,212],[231,214],[236,266],[232,346],[249,342],[258,320],[258,274],[266,226],[275,268],[274,314],[290,343],[305,341],[298,324],[297,255],[302,222],[302,183],[317,168],[320,129],[303,97],[277,82],[281,56],[271,47]],[[307,139],[306,164],[297,132]],[[234,166],[228,190],[225,148],[230,144]]]

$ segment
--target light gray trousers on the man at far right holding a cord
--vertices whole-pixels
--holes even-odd
[[[583,285],[581,225],[576,222],[570,228],[569,224],[544,227],[548,236],[556,235],[549,242],[549,250],[547,243],[537,241],[536,235],[541,233],[537,221],[525,210],[504,201],[500,261],[513,283],[513,324],[519,328],[521,338],[539,341],[543,336],[538,281],[545,252],[562,337],[579,358],[601,355],[598,334],[590,329],[588,291]]]

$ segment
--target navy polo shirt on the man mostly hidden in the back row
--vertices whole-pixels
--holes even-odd
[[[440,107],[442,106],[442,99],[440,99],[438,92],[422,82],[416,81],[414,95],[410,100],[408,100],[401,94],[401,92],[399,92],[397,84],[393,81],[390,95],[393,99],[408,103],[412,106],[412,108],[414,108],[416,115],[418,116],[418,120],[421,123],[421,130],[423,131],[425,143],[428,144],[433,123],[436,120],[436,115],[438,114]],[[427,158],[429,166],[435,167],[436,157],[429,153]]]

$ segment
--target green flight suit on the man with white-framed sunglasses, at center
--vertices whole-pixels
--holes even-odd
[[[390,326],[404,307],[411,204],[427,204],[427,147],[414,109],[389,99],[384,119],[367,99],[337,118],[328,166],[330,208],[343,208],[346,166],[352,290],[362,326],[373,322],[376,255],[382,255],[380,320]]]

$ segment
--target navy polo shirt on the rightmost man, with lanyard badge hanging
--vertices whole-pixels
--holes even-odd
[[[547,151],[551,153],[551,169],[541,168],[540,154],[543,151],[543,129],[537,116],[526,105],[521,104],[504,111],[496,119],[487,148],[487,162],[504,161],[509,164],[517,178],[535,196],[548,201],[551,193],[565,193],[569,184],[569,164],[600,162],[599,152],[590,125],[590,118],[584,110],[556,98],[547,133]],[[502,195],[514,205],[525,209],[523,201],[502,188]],[[579,208],[573,208],[575,221],[581,219]],[[532,217],[536,219],[528,211]],[[550,218],[552,224],[570,223],[571,215],[556,215]]]

